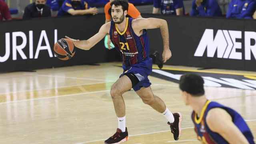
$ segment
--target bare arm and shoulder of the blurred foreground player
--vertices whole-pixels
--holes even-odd
[[[226,110],[222,108],[211,109],[206,122],[213,132],[220,134],[230,144],[249,144],[242,132],[232,122],[232,118]]]

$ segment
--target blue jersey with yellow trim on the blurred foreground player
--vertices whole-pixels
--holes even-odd
[[[198,136],[198,140],[202,141],[203,144],[228,144],[228,142],[220,134],[210,130],[206,123],[206,116],[209,110],[212,108],[222,108],[226,110],[226,112],[228,112],[228,114],[230,114],[230,116],[232,117],[233,123],[242,132],[242,134],[244,134],[248,142],[250,144],[255,144],[250,128],[248,127],[242,116],[238,114],[238,112],[217,102],[211,102],[210,100],[208,100],[204,105],[199,118],[195,111],[193,111],[191,115],[192,121],[195,126],[194,130]]]

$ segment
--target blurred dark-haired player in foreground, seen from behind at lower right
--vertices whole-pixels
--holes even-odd
[[[181,76],[180,90],[185,104],[193,109],[191,118],[203,144],[254,144],[252,132],[240,114],[206,99],[201,76]]]

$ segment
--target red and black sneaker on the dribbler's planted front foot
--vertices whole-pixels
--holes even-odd
[[[105,140],[104,144],[121,144],[123,142],[126,142],[128,140],[128,132],[127,128],[125,128],[125,132],[122,132],[119,128],[116,129],[116,133]]]

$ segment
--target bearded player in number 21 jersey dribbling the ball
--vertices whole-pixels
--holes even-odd
[[[124,73],[112,85],[110,94],[114,103],[118,128],[116,133],[105,141],[105,144],[120,144],[128,140],[126,128],[125,104],[122,94],[131,88],[157,112],[162,113],[168,120],[174,140],[178,140],[181,132],[182,115],[170,112],[164,102],[153,94],[148,76],[152,72],[152,59],[149,58],[149,41],[145,29],[160,28],[163,38],[163,60],[166,62],[172,53],[169,48],[169,34],[166,20],[158,18],[126,18],[128,3],[114,0],[111,3],[112,21],[103,24],[99,32],[88,40],[74,40],[74,45],[83,50],[90,50],[106,34],[110,34],[115,48],[123,56]],[[66,38],[68,38],[66,36]]]

